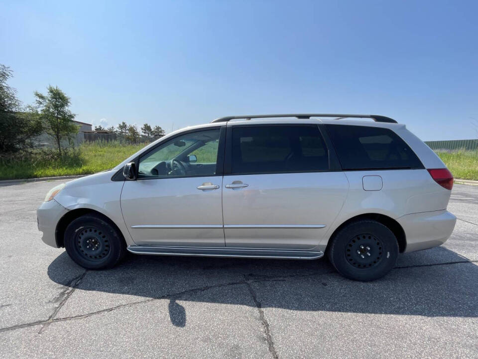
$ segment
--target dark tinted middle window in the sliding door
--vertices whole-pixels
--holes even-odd
[[[328,152],[316,126],[233,127],[233,174],[324,171],[328,168]]]

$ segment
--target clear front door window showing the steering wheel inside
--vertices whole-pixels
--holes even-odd
[[[192,132],[166,141],[139,159],[138,178],[216,175],[219,132]]]

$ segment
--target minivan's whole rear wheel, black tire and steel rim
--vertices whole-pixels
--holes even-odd
[[[393,232],[375,220],[358,220],[341,228],[332,238],[328,256],[344,277],[372,281],[396,264],[398,241]]]

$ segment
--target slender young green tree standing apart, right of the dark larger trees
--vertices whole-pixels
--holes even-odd
[[[73,122],[76,115],[69,109],[70,98],[56,86],[48,86],[46,95],[35,91],[35,97],[40,118],[46,124],[46,133],[55,139],[61,155],[61,141],[71,141],[79,130]]]

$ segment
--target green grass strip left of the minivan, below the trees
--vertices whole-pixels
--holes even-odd
[[[27,179],[89,175],[111,169],[145,145],[85,143],[59,156],[54,150],[36,150],[0,162],[0,179]]]

